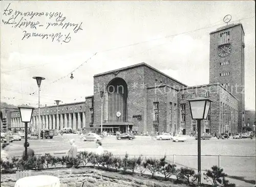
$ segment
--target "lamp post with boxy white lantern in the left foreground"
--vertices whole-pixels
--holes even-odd
[[[34,108],[30,106],[19,106],[19,113],[22,122],[25,123],[25,159],[28,158],[28,123],[31,122],[32,113]]]

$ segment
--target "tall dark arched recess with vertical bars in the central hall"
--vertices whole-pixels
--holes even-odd
[[[108,122],[127,122],[127,84],[122,78],[114,78],[107,86]]]

